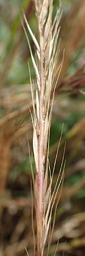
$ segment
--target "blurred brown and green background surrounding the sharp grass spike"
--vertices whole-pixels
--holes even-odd
[[[64,49],[65,57],[56,88],[50,131],[51,170],[62,125],[63,134],[53,187],[61,167],[65,142],[66,167],[50,256],[54,255],[58,239],[57,256],[84,256],[85,1],[61,2],[63,14],[57,65],[62,61]],[[33,130],[29,113],[29,109],[32,112],[32,100],[28,62],[34,81],[35,72],[20,21],[22,6],[29,25],[38,38],[33,2],[0,0],[0,256],[24,256],[25,246],[29,255],[33,255],[30,185],[32,177],[27,144],[28,136],[32,151]],[[55,0],[53,15],[57,6],[58,1]],[[35,55],[30,35],[29,40]],[[33,170],[35,173],[34,160]],[[33,220],[36,233],[35,209]]]

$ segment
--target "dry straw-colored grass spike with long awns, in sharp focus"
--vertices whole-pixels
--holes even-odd
[[[58,192],[59,185],[61,184],[63,172],[59,171],[58,180],[53,193],[50,164],[48,158],[49,152],[49,132],[50,132],[50,121],[52,117],[52,108],[54,100],[51,100],[50,96],[52,91],[52,85],[54,85],[55,77],[57,75],[57,81],[59,73],[61,72],[62,63],[56,70],[56,64],[58,60],[59,44],[59,20],[61,18],[61,8],[57,10],[56,16],[53,20],[53,0],[35,0],[36,17],[38,22],[39,30],[39,42],[37,42],[35,35],[31,31],[27,18],[24,15],[24,20],[27,25],[28,31],[32,36],[33,43],[36,47],[36,60],[33,57],[31,45],[27,32],[24,27],[24,32],[27,37],[29,50],[31,53],[33,67],[35,68],[37,89],[36,89],[36,108],[33,96],[33,82],[31,81],[31,92],[33,102],[33,154],[36,165],[36,179],[33,177],[33,188],[35,192],[35,206],[36,206],[36,221],[37,221],[37,256],[42,256],[44,253],[44,247],[46,238],[49,234],[48,249],[52,238],[52,232],[50,231],[51,216],[54,201]],[[31,72],[29,70],[30,80]],[[57,84],[56,81],[56,84]],[[54,85],[54,90],[56,88]],[[56,156],[57,158],[57,156]],[[55,167],[56,161],[54,163]],[[63,160],[62,160],[63,164]],[[31,164],[32,167],[32,164]],[[61,166],[62,168],[62,166]],[[50,172],[50,184],[48,186],[48,170]],[[53,168],[54,173],[54,168]],[[61,176],[61,179],[59,179]],[[54,193],[55,192],[55,193]],[[54,224],[53,224],[54,226]],[[53,231],[53,229],[52,229]],[[49,250],[48,250],[49,251]],[[47,253],[48,254],[48,253]]]

